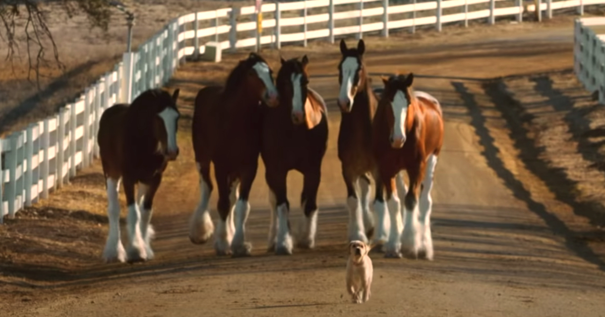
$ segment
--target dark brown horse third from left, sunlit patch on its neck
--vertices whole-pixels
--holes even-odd
[[[276,86],[280,106],[265,109],[261,157],[269,185],[271,220],[268,252],[292,254],[292,237],[288,220],[288,171],[297,170],[304,176],[301,206],[304,226],[298,246],[313,248],[317,228],[317,191],[321,181],[321,162],[328,141],[327,110],[320,95],[309,88],[309,59],[281,59]]]

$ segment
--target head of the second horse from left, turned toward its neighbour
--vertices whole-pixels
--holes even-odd
[[[269,64],[256,53],[250,53],[246,60],[240,62],[245,68],[246,74],[234,74],[241,76],[244,87],[247,87],[250,94],[253,94],[258,100],[263,101],[269,107],[278,105],[278,92],[273,82],[273,71]]]

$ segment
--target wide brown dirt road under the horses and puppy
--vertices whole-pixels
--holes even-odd
[[[484,80],[571,68],[571,20],[538,28],[485,29],[476,28],[476,34],[465,33],[457,39],[452,33],[420,39],[393,36],[390,43],[367,39],[370,72],[414,71],[416,89],[439,98],[447,118],[433,191],[435,260],[393,260],[373,254],[374,283],[368,303],[350,304],[345,292],[347,211],[336,158],[340,114],[335,111],[338,79],[333,76],[338,46],[322,44],[283,52],[286,57],[309,54],[311,85],[332,109],[315,250],[295,249],[290,257],[266,254],[269,211],[263,167],[251,194],[248,232],[253,256],[216,257],[211,245],[192,245],[187,221],[198,199],[197,175],[185,122],[180,136],[183,152],[169,168],[155,204],[152,223],[157,231],[153,245],[157,258],[135,266],[100,264],[103,223],[102,228],[83,231],[92,233],[89,239],[80,237],[80,245],[65,247],[72,251],[65,258],[79,261],[77,265],[38,263],[35,270],[14,269],[13,278],[0,280],[0,292],[10,295],[2,295],[0,315],[605,315],[603,242],[574,239],[577,232],[597,229],[575,216],[573,208],[564,208],[565,202],[518,158],[523,149],[515,147],[503,101],[494,92],[497,85]],[[277,54],[265,55],[276,69]],[[181,69],[171,86],[184,89],[185,112],[197,89],[223,78],[224,69],[241,56],[227,57],[221,65],[195,63]],[[379,86],[378,78],[374,83]],[[88,209],[91,214],[103,213],[105,208],[98,173],[95,166],[74,181],[76,186],[90,187],[82,185],[80,191],[97,194],[87,198],[98,202]],[[301,190],[296,172],[290,173],[288,184],[290,202],[296,202]],[[68,193],[75,191],[66,189],[57,195]],[[294,208],[293,227],[301,217],[298,207]],[[84,253],[78,246],[90,248],[94,256],[78,258]]]

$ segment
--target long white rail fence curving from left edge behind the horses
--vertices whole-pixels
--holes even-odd
[[[0,140],[0,223],[5,215],[13,218],[17,211],[46,198],[50,190],[62,187],[76,176],[77,170],[99,158],[96,134],[103,110],[114,103],[129,103],[146,89],[165,85],[175,69],[185,63],[185,57],[204,53],[202,42],[214,42],[221,51],[235,51],[262,45],[280,48],[282,43],[292,42],[307,45],[307,40],[319,38],[333,43],[336,36],[347,34],[355,34],[359,39],[364,33],[380,31],[382,36],[388,36],[390,30],[414,30],[419,25],[433,24],[441,30],[445,23],[464,21],[468,25],[468,21],[474,19],[487,19],[488,24],[494,24],[497,16],[514,16],[522,21],[525,11],[522,0],[509,1],[514,2],[510,7],[496,7],[496,1],[502,0],[414,1],[401,5],[390,5],[388,0],[309,0],[263,4],[261,13],[255,13],[252,5],[190,13],[173,19],[140,45],[138,51],[125,53],[113,71],[99,78],[74,103],[60,109],[59,114]],[[364,8],[371,2],[374,7]],[[578,12],[583,13],[585,5],[600,3],[605,0],[547,0],[538,3],[538,7],[546,10],[547,16],[552,16],[555,9],[578,7]],[[488,4],[488,8],[469,10],[469,6],[476,4]],[[339,5],[356,5],[357,8],[338,11]],[[327,12],[309,14],[312,8],[327,8]],[[460,12],[443,14],[445,8],[459,8]],[[282,18],[292,15],[292,11],[298,14]],[[434,14],[417,17],[419,11],[434,11]],[[290,14],[284,14],[286,12]],[[263,13],[272,13],[273,18],[262,19]],[[390,19],[391,15],[401,16],[401,13],[407,13],[411,18]],[[374,17],[378,22],[365,23],[364,18],[368,17]],[[238,22],[241,18],[249,18],[251,22]],[[347,19],[355,22],[344,27],[335,26],[336,21]],[[226,24],[221,24],[222,20],[226,20]],[[262,34],[262,30],[258,33],[258,22],[264,30],[270,29],[269,35]],[[210,26],[200,27],[200,23]],[[284,28],[292,26],[300,27],[300,31],[282,33]],[[310,27],[319,28],[309,30]],[[191,45],[188,46],[188,42]]]

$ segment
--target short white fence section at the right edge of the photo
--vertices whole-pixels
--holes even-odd
[[[574,72],[587,91],[605,103],[605,18],[578,18],[574,25]]]

